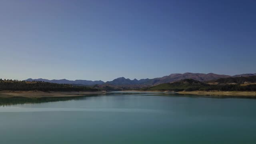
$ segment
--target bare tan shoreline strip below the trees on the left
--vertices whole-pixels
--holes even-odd
[[[42,92],[42,91],[0,91],[0,97],[27,97],[27,98],[42,98],[42,97],[68,97],[68,96],[86,96],[88,94],[106,94],[106,91],[96,92]]]

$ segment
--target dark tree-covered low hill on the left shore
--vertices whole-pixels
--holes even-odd
[[[38,90],[38,91],[98,91],[86,86],[55,84],[50,82],[26,82],[18,80],[0,80],[0,90]]]

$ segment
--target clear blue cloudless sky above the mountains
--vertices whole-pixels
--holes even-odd
[[[255,0],[0,0],[0,78],[256,73]]]

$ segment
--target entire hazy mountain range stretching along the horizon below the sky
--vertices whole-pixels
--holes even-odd
[[[256,76],[255,74],[238,74],[234,76],[229,76],[229,75],[223,75],[223,74],[214,74],[214,73],[209,73],[209,74],[202,74],[202,73],[190,73],[186,72],[184,74],[170,74],[169,76],[163,76],[161,78],[153,78],[153,79],[134,79],[130,80],[129,78],[116,78],[112,81],[107,81],[103,82],[101,80],[96,80],[96,81],[91,81],[91,80],[47,80],[47,79],[32,79],[29,78],[25,81],[44,81],[44,82],[52,82],[52,83],[57,83],[57,84],[81,84],[81,85],[102,85],[102,84],[110,84],[110,85],[116,85],[116,86],[122,86],[122,85],[157,85],[157,84],[163,84],[163,83],[169,83],[169,82],[175,82],[178,80],[183,80],[183,79],[194,79],[198,80],[200,82],[204,81],[210,81],[210,80],[217,80],[219,78],[230,78],[230,77],[246,77],[246,76]]]

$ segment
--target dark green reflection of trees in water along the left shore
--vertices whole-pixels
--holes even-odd
[[[84,100],[86,97],[99,96],[97,94],[90,96],[70,96],[70,97],[42,97],[42,98],[26,98],[26,97],[10,97],[10,98],[0,98],[1,106],[10,106],[18,104],[38,104],[44,102],[58,102],[58,101],[68,101],[68,100]]]

